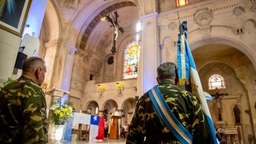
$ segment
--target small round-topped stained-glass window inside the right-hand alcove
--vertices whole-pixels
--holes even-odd
[[[208,81],[209,90],[215,90],[216,88],[226,88],[223,76],[220,74],[213,74]]]

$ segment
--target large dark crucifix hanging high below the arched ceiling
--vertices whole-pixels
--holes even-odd
[[[112,15],[112,14],[111,14]],[[121,33],[124,33],[125,31],[123,30],[123,27],[119,26],[119,23],[117,21],[117,18],[119,17],[119,15],[117,14],[117,11],[114,11],[114,16],[112,15],[112,18],[110,18],[110,15],[107,14],[104,18],[102,18],[101,20],[108,20],[108,22],[110,22],[112,25],[110,27],[113,27],[113,35],[112,35],[112,46],[111,46],[111,52],[112,54],[116,54],[116,39],[118,37],[118,33],[119,31]]]

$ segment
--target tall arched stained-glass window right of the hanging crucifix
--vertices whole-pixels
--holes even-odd
[[[123,79],[137,78],[139,43],[137,41],[129,43],[125,48],[123,57]]]

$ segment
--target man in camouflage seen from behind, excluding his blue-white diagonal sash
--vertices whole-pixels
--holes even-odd
[[[200,104],[196,96],[175,86],[176,73],[175,63],[161,64],[158,67],[158,88],[175,117],[192,134],[193,143],[211,143]],[[126,143],[181,143],[161,120],[148,92],[137,103]]]

